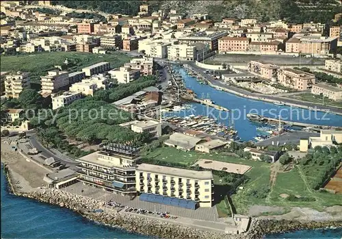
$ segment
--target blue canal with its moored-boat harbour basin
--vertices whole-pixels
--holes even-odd
[[[180,66],[174,66],[174,70],[183,77],[185,86],[193,90],[198,98],[209,97],[216,105],[228,108],[231,112],[222,112],[207,105],[191,103],[190,107],[186,110],[167,112],[166,116],[175,115],[185,117],[191,114],[209,116],[215,118],[218,123],[233,125],[242,140],[253,140],[259,134],[257,127],[260,127],[260,125],[250,122],[246,116],[248,113],[260,114],[270,118],[278,118],[280,115],[284,121],[342,127],[341,115],[246,99],[228,92],[216,90],[205,84],[200,84],[196,81],[195,77],[187,75],[185,69]]]

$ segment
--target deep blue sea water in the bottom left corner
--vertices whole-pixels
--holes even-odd
[[[1,169],[1,238],[148,238],[98,225],[66,208],[16,197]]]

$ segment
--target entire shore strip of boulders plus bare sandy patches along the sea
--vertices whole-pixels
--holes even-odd
[[[84,197],[64,190],[46,188],[42,180],[45,168],[11,151],[8,144],[1,142],[1,163],[5,165],[8,190],[18,197],[35,199],[43,203],[66,207],[81,214],[89,221],[109,227],[123,229],[134,234],[158,238],[261,238],[265,234],[278,234],[300,229],[342,227],[341,206],[330,207],[326,212],[307,208],[294,208],[285,215],[252,218],[250,229],[244,234],[224,234],[218,231],[182,225],[163,218],[117,212],[107,209],[105,201]],[[262,208],[262,207],[261,207]],[[96,213],[93,210],[103,209]]]

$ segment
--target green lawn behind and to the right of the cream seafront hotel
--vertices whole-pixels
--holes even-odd
[[[270,167],[272,164],[265,162],[244,160],[235,158],[231,155],[222,155],[222,153],[213,153],[209,155],[207,153],[198,153],[194,151],[183,152],[169,147],[157,148],[151,153],[146,153],[144,156],[164,162],[177,162],[187,166],[194,164],[194,162],[202,158],[252,166],[250,171],[245,173],[248,177],[248,181],[243,185],[244,188],[238,190],[237,193],[231,196],[233,205],[239,214],[248,213],[248,208],[251,205],[275,205],[284,207],[282,212],[267,212],[266,214],[269,215],[289,212],[291,207],[311,207],[316,210],[323,210],[324,207],[327,206],[342,205],[341,194],[330,194],[328,192],[312,190],[308,185],[308,182],[311,180],[310,177],[312,176],[306,176],[305,170],[307,170],[307,168],[299,168],[301,166],[295,166],[295,168],[289,172],[278,173],[274,186],[270,186]],[[315,168],[313,168],[313,170],[315,170]],[[214,175],[214,184],[215,188],[220,188],[220,186],[222,186],[220,177]],[[251,192],[259,192],[264,188],[270,189],[269,192],[265,193],[267,197],[251,196]],[[307,198],[311,201],[289,201],[288,199],[280,197],[280,194]],[[224,200],[218,201],[216,208],[218,209],[220,216],[226,216],[228,214]]]

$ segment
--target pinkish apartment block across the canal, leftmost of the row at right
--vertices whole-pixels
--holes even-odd
[[[277,79],[279,67],[262,62],[248,62],[248,72],[264,79]]]

